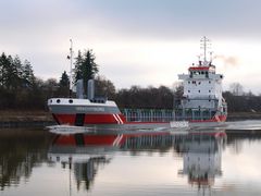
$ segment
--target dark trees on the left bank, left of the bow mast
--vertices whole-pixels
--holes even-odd
[[[28,60],[3,52],[0,56],[0,109],[46,109],[49,97],[67,90],[64,77],[66,73],[59,83],[54,78],[42,81],[35,76]]]

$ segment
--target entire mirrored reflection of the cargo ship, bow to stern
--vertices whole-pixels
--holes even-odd
[[[187,177],[189,184],[196,185],[204,194],[206,191],[211,192],[214,179],[222,175],[221,151],[225,138],[224,131],[182,134],[170,131],[59,134],[49,148],[48,159],[73,170],[77,188],[84,185],[88,191],[99,169],[110,164],[119,151],[135,155],[137,151],[166,152],[173,149],[183,157],[183,169],[178,171],[178,177]]]

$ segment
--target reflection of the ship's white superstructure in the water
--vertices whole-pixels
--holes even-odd
[[[188,134],[179,145],[183,170],[178,173],[187,175],[188,183],[196,185],[203,195],[207,189],[211,193],[214,179],[222,175],[221,158],[225,138],[225,132]]]

